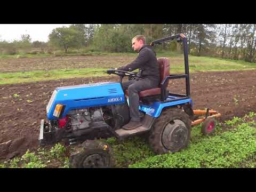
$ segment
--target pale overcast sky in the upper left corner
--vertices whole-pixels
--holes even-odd
[[[0,41],[20,40],[22,34],[29,34],[31,41],[48,41],[52,29],[70,24],[0,24]]]

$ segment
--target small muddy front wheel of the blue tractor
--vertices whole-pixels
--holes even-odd
[[[84,141],[69,158],[69,167],[73,168],[103,168],[112,165],[110,146],[98,140]]]

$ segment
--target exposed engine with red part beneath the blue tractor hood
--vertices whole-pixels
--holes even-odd
[[[129,120],[127,104],[87,107],[70,110],[61,119],[51,120],[49,126],[45,126],[45,131],[54,131],[55,141],[69,139],[71,145],[84,137],[109,137],[112,134],[109,127],[119,129]]]

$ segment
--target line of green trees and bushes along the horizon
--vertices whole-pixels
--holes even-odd
[[[91,51],[132,52],[131,39],[145,35],[146,42],[183,33],[187,36],[189,54],[255,62],[256,24],[74,24],[55,28],[48,42],[31,42],[29,35],[21,41],[0,42],[0,47],[54,47]],[[179,43],[171,42],[156,49],[181,51]]]

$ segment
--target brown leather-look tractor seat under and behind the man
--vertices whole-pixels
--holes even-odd
[[[157,88],[144,90],[139,92],[139,97],[148,97],[151,95],[158,95],[161,94],[161,83],[163,82],[164,78],[170,75],[170,60],[167,58],[159,58],[157,59],[157,63],[159,65],[159,73],[160,73],[160,82]],[[166,87],[168,84],[166,84]],[[165,87],[165,88],[166,88]],[[128,90],[125,90],[125,94],[128,95]]]

